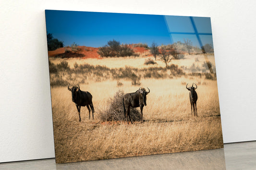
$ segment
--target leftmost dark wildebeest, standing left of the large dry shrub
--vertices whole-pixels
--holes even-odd
[[[77,84],[78,87],[73,86],[71,89],[69,88],[68,85],[68,90],[72,92],[72,101],[75,103],[78,114],[79,114],[79,122],[81,122],[81,117],[80,117],[80,110],[81,106],[86,106],[88,111],[89,111],[89,119],[90,119],[90,113],[92,110],[92,118],[94,119],[93,113],[94,113],[94,107],[92,104],[92,95],[88,91],[81,91],[79,85]],[[90,110],[90,107],[91,110]]]

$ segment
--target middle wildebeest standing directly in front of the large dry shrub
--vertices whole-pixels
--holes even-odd
[[[148,89],[148,88],[147,88]],[[124,110],[124,116],[126,118],[126,121],[129,125],[128,122],[128,116],[130,118],[131,123],[133,124],[133,121],[130,116],[130,107],[140,107],[140,120],[141,123],[143,122],[143,107],[146,106],[146,95],[150,92],[148,89],[148,92],[146,89],[142,88],[137,90],[136,92],[133,93],[127,93],[123,96],[123,110]]]

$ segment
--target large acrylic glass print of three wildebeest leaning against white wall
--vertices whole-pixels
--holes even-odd
[[[57,163],[223,147],[210,18],[45,12]]]

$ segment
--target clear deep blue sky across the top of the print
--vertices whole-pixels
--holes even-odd
[[[46,10],[47,32],[71,45],[99,47],[110,40],[123,44],[172,44],[183,38],[200,46],[190,17]],[[210,18],[193,17],[203,45],[213,44]],[[210,34],[210,35],[209,35]]]

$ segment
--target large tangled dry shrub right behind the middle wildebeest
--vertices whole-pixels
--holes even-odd
[[[99,113],[99,119],[101,121],[125,121],[123,96],[124,92],[119,90],[113,98],[108,100],[108,107]],[[140,112],[136,108],[131,107],[130,115],[133,121],[140,120]]]

